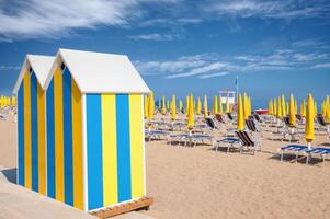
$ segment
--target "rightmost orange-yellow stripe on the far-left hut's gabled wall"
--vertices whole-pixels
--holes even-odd
[[[37,84],[38,189],[46,194],[45,92]]]

